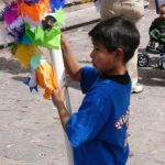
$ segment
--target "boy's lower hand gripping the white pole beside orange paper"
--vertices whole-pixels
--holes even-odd
[[[67,86],[64,86],[63,88],[61,89],[58,88],[53,91],[52,100],[53,100],[54,106],[56,106],[58,109],[63,108],[64,106],[66,89],[67,89]]]

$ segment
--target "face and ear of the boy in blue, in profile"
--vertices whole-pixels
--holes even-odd
[[[116,51],[110,53],[102,44],[94,40],[92,44],[94,50],[90,54],[91,63],[99,72],[112,73],[122,63],[122,58],[117,56]]]

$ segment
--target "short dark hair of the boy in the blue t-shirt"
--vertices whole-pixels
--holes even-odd
[[[122,48],[124,63],[133,56],[140,44],[140,33],[134,23],[122,16],[98,23],[88,34],[92,40],[101,43],[108,52]]]

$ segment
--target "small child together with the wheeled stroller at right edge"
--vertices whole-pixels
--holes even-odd
[[[139,54],[139,66],[144,67],[148,64],[147,53],[161,54],[157,61],[160,68],[165,69],[165,3],[158,7],[160,16],[156,18],[148,30],[150,42],[145,53]],[[156,46],[156,43],[158,46]]]

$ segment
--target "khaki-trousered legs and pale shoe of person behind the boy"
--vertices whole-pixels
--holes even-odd
[[[116,15],[121,15],[130,19],[140,28],[141,18],[144,15],[143,0],[101,0],[100,8],[101,19],[108,19]],[[132,80],[132,92],[140,92],[143,86],[138,85],[138,50],[132,59],[128,63],[128,72]]]

